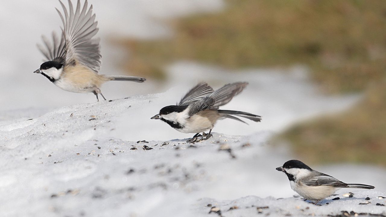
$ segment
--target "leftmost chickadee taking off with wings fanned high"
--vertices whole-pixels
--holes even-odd
[[[99,38],[93,38],[98,32],[93,6],[87,10],[87,0],[81,8],[80,0],[74,11],[73,5],[68,0],[69,11],[59,0],[63,7],[64,16],[58,9],[63,22],[61,39],[52,32],[52,41],[42,36],[44,46],[38,44],[39,50],[47,58],[40,68],[34,73],[44,75],[59,88],[75,93],[92,92],[97,96],[102,93],[100,86],[106,81],[135,81],[142,83],[146,79],[134,76],[99,75],[101,55]],[[106,100],[105,97],[103,97]]]

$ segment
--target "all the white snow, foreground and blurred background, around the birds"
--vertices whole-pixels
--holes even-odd
[[[123,73],[117,63],[126,52],[110,39],[166,37],[173,32],[161,20],[224,7],[222,0],[89,3],[102,39],[101,73],[108,75]],[[264,206],[269,208],[262,214],[270,216],[336,215],[342,210],[385,213],[384,207],[375,205],[385,204],[376,199],[386,194],[383,168],[315,167],[376,189],[350,189],[355,195],[347,199],[341,196],[347,191],[339,190],[336,197],[342,199],[331,197],[324,202],[329,205],[314,206],[294,198],[286,176],[274,170],[293,159],[288,147],[267,142],[296,121],[344,110],[360,96],[321,95],[304,67],[229,71],[180,61],[166,69],[164,83],[148,79],[143,84],[105,84],[105,97],[121,99],[97,103],[92,94],[64,92],[32,73],[42,63],[36,48],[40,36],[59,31],[54,7],[60,7],[58,1],[0,2],[0,29],[5,30],[0,32],[0,216],[217,216],[219,212],[209,214],[213,206],[223,216],[255,216],[256,207]],[[249,81],[223,108],[262,115],[262,122],[222,120],[213,131],[223,134],[214,133],[214,138],[190,147],[185,141],[192,135],[150,120],[203,80],[214,88]],[[85,102],[93,103],[76,104]],[[137,143],[142,140],[149,143]],[[144,150],[145,145],[152,149]],[[371,203],[358,205],[367,195]],[[234,205],[239,208],[229,211]]]

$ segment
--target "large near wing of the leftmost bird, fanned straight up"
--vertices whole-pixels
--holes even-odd
[[[92,14],[93,6],[87,10],[87,0],[81,9],[80,0],[76,5],[74,12],[73,5],[68,0],[69,11],[64,4],[59,0],[63,8],[63,14],[56,9],[62,19],[64,29],[63,35],[65,38],[65,64],[73,64],[79,61],[81,64],[88,66],[90,69],[98,73],[101,65],[101,55],[99,50],[99,39],[92,37],[98,32],[95,21],[95,14]]]

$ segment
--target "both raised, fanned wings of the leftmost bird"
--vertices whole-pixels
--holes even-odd
[[[68,11],[60,0],[59,2],[63,8],[63,14],[56,9],[63,22],[61,40],[59,41],[58,37],[52,34],[53,44],[51,44],[46,37],[42,37],[45,47],[38,45],[40,51],[48,60],[64,64],[79,61],[97,73],[102,56],[99,50],[99,39],[92,38],[98,32],[98,22],[95,22],[95,14],[92,14],[92,5],[87,10],[86,0],[81,8],[78,0],[74,11],[71,1],[68,0]]]

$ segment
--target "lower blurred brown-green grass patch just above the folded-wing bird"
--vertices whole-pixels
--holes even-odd
[[[310,163],[355,162],[386,166],[386,80],[349,111],[296,124],[276,139],[293,144]]]

